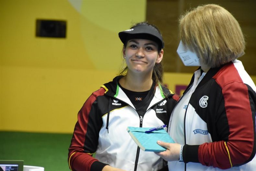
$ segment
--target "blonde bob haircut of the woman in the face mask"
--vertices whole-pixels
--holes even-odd
[[[225,8],[208,4],[180,18],[180,39],[211,68],[244,54],[245,41],[238,21]]]

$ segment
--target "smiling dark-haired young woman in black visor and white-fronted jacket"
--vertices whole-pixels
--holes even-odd
[[[179,98],[162,86],[162,36],[142,22],[119,37],[127,67],[93,92],[78,112],[68,154],[73,171],[155,171],[166,166],[155,153],[140,150],[126,131],[128,126],[168,124]]]

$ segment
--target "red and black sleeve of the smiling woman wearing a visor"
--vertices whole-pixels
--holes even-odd
[[[102,125],[102,123],[98,123],[101,120],[101,116],[97,115],[96,101],[97,96],[104,95],[104,92],[105,89],[103,88],[94,92],[78,112],[68,153],[68,164],[73,171],[90,171],[91,165],[98,161],[92,157],[98,146],[98,131],[99,127],[101,127],[100,124]],[[90,137],[89,139],[87,139],[88,136]]]

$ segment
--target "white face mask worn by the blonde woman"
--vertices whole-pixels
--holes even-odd
[[[185,66],[200,66],[199,58],[197,57],[196,53],[185,47],[182,41],[180,41],[177,53]]]

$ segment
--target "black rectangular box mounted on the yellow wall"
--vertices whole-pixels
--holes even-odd
[[[36,36],[50,38],[65,38],[67,22],[64,20],[36,20]]]

